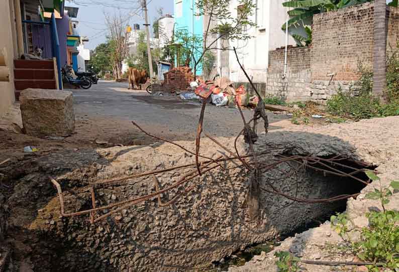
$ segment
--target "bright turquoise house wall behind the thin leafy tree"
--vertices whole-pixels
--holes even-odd
[[[203,37],[204,33],[204,20],[203,16],[195,16],[197,13],[195,0],[174,0],[174,32],[179,30],[186,30],[189,34]],[[178,41],[175,41],[178,43]],[[200,51],[197,51],[196,55],[201,55]],[[190,63],[191,68],[193,63]],[[201,65],[197,66],[196,75],[202,74]]]

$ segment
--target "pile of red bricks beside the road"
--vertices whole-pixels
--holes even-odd
[[[163,74],[163,91],[174,92],[176,90],[186,90],[190,82],[194,81],[191,68],[187,66],[174,67]]]

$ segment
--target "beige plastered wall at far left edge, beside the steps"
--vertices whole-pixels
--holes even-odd
[[[12,18],[12,13],[10,12],[10,2],[9,0],[0,1],[0,52],[3,50],[7,54],[7,66],[10,70],[10,81],[1,82],[0,81],[0,117],[7,112],[9,107],[15,101],[14,95],[14,44],[13,44],[13,34],[12,27],[15,26]]]

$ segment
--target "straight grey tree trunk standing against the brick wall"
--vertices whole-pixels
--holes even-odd
[[[386,3],[374,1],[373,93],[386,102]]]

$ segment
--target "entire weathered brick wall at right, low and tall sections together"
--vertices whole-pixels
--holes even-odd
[[[288,50],[285,79],[281,77],[284,50],[269,52],[266,92],[283,95],[288,101],[313,100],[324,104],[339,87],[356,89],[359,61],[372,69],[373,13],[374,4],[366,3],[315,15],[312,45]],[[389,54],[399,40],[399,9],[388,7],[387,18]]]

